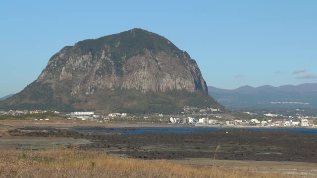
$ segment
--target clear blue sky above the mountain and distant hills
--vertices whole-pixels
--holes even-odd
[[[63,46],[132,28],[186,50],[209,86],[316,83],[316,9],[316,0],[2,1],[0,96],[36,80]]]

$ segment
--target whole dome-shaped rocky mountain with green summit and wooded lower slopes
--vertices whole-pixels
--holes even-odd
[[[132,29],[65,46],[36,81],[0,107],[163,112],[220,107],[195,60],[169,40]]]

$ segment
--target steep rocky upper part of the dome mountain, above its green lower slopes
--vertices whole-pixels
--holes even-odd
[[[66,46],[50,59],[37,79],[53,88],[70,81],[71,95],[101,89],[208,93],[195,60],[187,52],[142,29]]]

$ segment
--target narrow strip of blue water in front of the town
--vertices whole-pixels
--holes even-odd
[[[178,128],[105,128],[104,130],[76,130],[77,132],[112,132],[122,134],[144,134],[144,133],[190,133],[199,131],[218,131],[225,129],[248,129],[254,131],[290,131],[304,134],[317,134],[317,129],[303,128],[202,128],[202,127],[178,127]],[[228,131],[230,132],[230,131]]]

